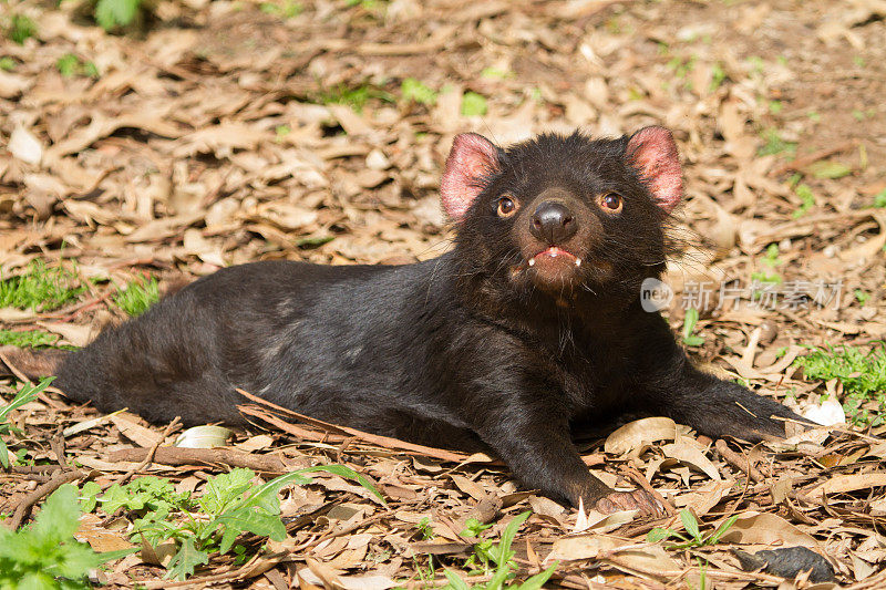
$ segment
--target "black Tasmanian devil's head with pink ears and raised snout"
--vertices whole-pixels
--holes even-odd
[[[673,136],[646,127],[614,139],[545,134],[504,149],[462,134],[440,190],[464,276],[564,301],[636,294],[658,276],[683,184]]]

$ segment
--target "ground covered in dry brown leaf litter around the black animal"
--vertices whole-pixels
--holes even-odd
[[[143,273],[165,287],[261,259],[431,258],[451,237],[437,187],[454,134],[507,144],[539,131],[663,124],[688,187],[674,229],[688,246],[668,273],[669,317],[679,331],[684,303],[699,308],[701,342],[690,340],[699,362],[802,408],[843,393],[838,381],[804,377],[793,363],[803,346],[868,350],[886,338],[882,0],[161,0],[127,34],[104,32],[78,2],[8,0],[0,25],[13,13],[32,18],[37,34],[0,40],[0,271],[14,277],[39,259],[72,269],[86,289],[58,310],[0,309],[2,329],[83,345],[125,318],[116,292]],[[782,297],[790,287],[802,304],[752,304],[759,292],[748,286],[773,273]],[[705,281],[715,286],[710,300],[693,299]],[[744,286],[742,298],[722,283]],[[0,474],[0,513],[69,462],[103,488],[136,468],[179,490],[200,489],[237,460],[265,479],[334,462],[387,499],[332,476],[287,489],[286,541],[246,536],[257,557],[244,565],[215,553],[194,580],[441,587],[445,567],[483,584],[490,573],[466,577],[477,542],[462,535],[467,519],[491,524],[482,535],[497,544],[532,510],[513,545],[517,580],[556,561],[550,587],[776,587],[777,576],[742,571],[734,549],[804,546],[826,556],[843,586],[886,586],[880,426],[753,448],[660,423],[606,447],[606,433],[583,441],[595,473],[618,486],[651,484],[676,510],[691,509],[702,534],[739,515],[717,542],[673,548],[647,534],[684,534],[676,510],[657,522],[577,521],[485,456],[282,416],[236,433],[231,444],[250,458],[144,464],[144,452],[123,449],[154,447],[164,425],[120,414],[62,435],[97,415],[56,394],[17,411],[24,434],[7,438],[11,451],[49,467]],[[81,538],[99,550],[125,546],[133,518],[86,519]],[[172,587],[164,575],[142,551],[100,579]],[[803,576],[792,583],[813,586]]]

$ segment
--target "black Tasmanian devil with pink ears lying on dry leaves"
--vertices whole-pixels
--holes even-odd
[[[570,428],[639,411],[753,442],[784,436],[777,417],[802,420],[696,369],[643,311],[640,284],[664,269],[682,193],[662,127],[508,148],[459,135],[441,182],[449,253],[227,268],[42,365],[105,411],[238,424],[241,387],[372,433],[491,449],[527,487],[576,506],[656,513],[647,493],[594,477]]]

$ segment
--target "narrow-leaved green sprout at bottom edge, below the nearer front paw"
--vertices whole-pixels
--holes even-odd
[[[449,580],[446,586],[447,590],[539,590],[545,582],[554,575],[557,569],[557,562],[540,573],[536,573],[523,583],[509,583],[517,573],[517,565],[513,561],[514,551],[511,546],[514,544],[514,538],[521,525],[529,518],[532,511],[527,510],[514,517],[502,531],[502,538],[498,544],[493,544],[490,539],[481,537],[490,525],[482,525],[476,519],[468,519],[465,522],[465,529],[461,532],[463,537],[476,537],[477,544],[474,545],[474,555],[467,560],[467,567],[474,567],[468,576],[477,573],[492,573],[490,581],[468,586],[467,582],[462,580],[454,571],[445,570],[444,576]]]

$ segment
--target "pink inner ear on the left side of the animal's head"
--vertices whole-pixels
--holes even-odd
[[[461,220],[483,190],[481,180],[501,167],[498,148],[487,138],[476,133],[456,135],[440,180],[440,198],[446,215],[453,221]]]

